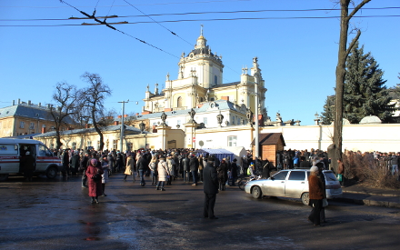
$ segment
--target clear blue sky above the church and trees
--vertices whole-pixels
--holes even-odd
[[[326,96],[335,94],[340,31],[335,1],[64,2],[0,0],[0,107],[18,98],[52,103],[58,82],[85,87],[80,76],[89,72],[101,75],[113,91],[105,99],[107,109],[121,113],[118,102],[129,100],[125,114],[140,113],[147,85],[153,92],[156,83],[165,85],[168,73],[177,78],[179,57],[194,48],[201,25],[207,44],[223,56],[224,83],[240,81],[242,67],[250,68],[258,57],[272,120],[279,112],[284,121],[313,125]],[[95,21],[69,19],[85,17],[78,10],[118,15],[106,22],[129,24],[113,25],[118,31],[82,25]],[[352,25],[362,31],[360,45],[385,72],[385,85],[399,84],[400,1],[372,0],[357,16]]]

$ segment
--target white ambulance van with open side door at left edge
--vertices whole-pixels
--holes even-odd
[[[29,151],[35,157],[34,174],[45,174],[53,179],[61,169],[61,159],[53,155],[42,142],[28,139],[0,138],[0,181],[5,181],[9,174],[22,174],[20,160]]]

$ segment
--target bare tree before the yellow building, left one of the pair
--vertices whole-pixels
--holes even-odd
[[[75,85],[68,85],[65,82],[55,85],[53,100],[56,107],[50,105],[50,115],[55,121],[56,149],[61,148],[61,128],[65,125],[71,125],[75,121],[71,118],[76,112],[76,104],[79,91]]]

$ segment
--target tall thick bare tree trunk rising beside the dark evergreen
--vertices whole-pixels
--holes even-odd
[[[340,17],[340,38],[339,53],[336,65],[336,86],[335,86],[335,125],[334,125],[334,145],[330,146],[335,153],[331,156],[334,170],[337,170],[337,159],[342,158],[342,142],[343,142],[343,95],[345,89],[345,61],[350,54],[351,49],[358,41],[361,31],[357,29],[357,34],[347,47],[348,27],[351,18],[371,0],[363,0],[360,4],[355,5],[351,0],[340,0],[341,17]],[[349,14],[349,5],[355,5],[353,11]]]

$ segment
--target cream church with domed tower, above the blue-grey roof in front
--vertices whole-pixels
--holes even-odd
[[[243,68],[237,82],[223,83],[222,56],[212,52],[201,32],[195,48],[187,55],[181,55],[176,79],[172,80],[169,74],[166,75],[165,88],[159,91],[158,85],[155,85],[154,93],[147,86],[142,115],[191,110],[221,99],[240,109],[250,109],[252,113],[258,108],[259,114],[264,114],[266,88],[256,57],[250,71],[248,74],[248,69]],[[255,75],[259,75],[258,106],[255,105]]]

